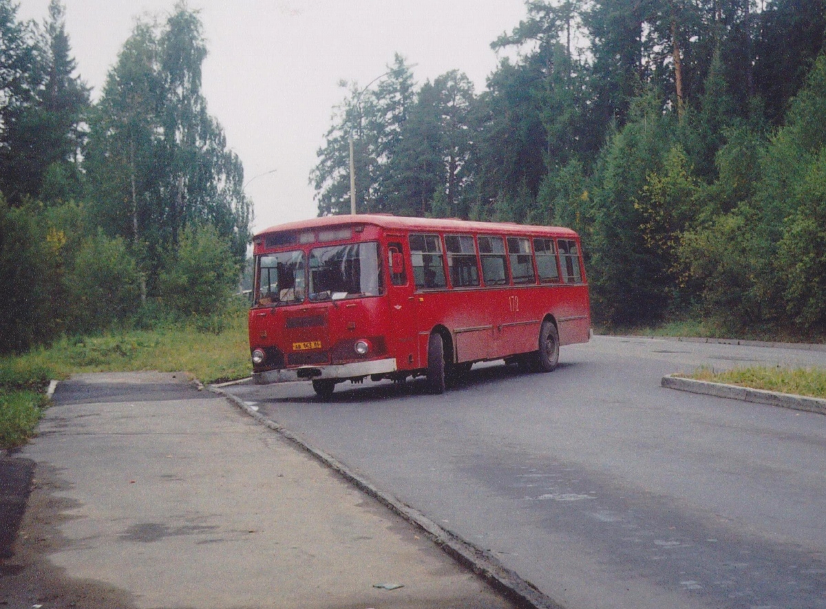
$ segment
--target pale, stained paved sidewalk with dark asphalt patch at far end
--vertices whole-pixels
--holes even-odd
[[[182,375],[65,381],[16,458],[36,463],[35,483],[0,562],[2,607],[511,607]]]

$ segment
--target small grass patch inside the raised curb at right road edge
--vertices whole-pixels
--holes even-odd
[[[700,368],[688,378],[714,383],[741,385],[752,389],[767,389],[783,394],[809,395],[826,399],[826,370],[823,368],[733,368],[714,371]]]

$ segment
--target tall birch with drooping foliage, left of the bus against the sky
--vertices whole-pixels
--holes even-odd
[[[238,262],[249,242],[244,170],[201,91],[206,54],[201,21],[183,3],[163,26],[139,22],[93,114],[93,199],[107,232],[131,239],[150,290],[189,224],[213,225]]]

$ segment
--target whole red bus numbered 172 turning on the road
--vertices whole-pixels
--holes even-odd
[[[424,375],[434,393],[477,361],[552,371],[591,309],[571,229],[338,215],[254,237],[257,384]]]

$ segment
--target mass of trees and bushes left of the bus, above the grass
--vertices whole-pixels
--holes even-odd
[[[202,24],[137,21],[102,88],[78,76],[51,0],[0,0],[0,353],[115,324],[196,316],[237,285],[252,208],[201,90]]]

